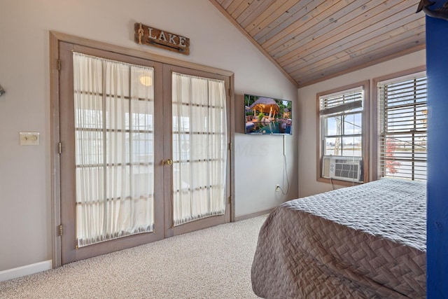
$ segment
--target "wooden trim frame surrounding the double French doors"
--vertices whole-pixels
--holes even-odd
[[[176,60],[174,58],[163,57],[160,55],[154,55],[146,53],[141,50],[135,50],[130,48],[124,48],[121,46],[114,46],[109,43],[102,43],[98,41],[92,41],[90,39],[80,38],[78,36],[72,36],[69,34],[63,34],[60,32],[50,31],[50,148],[51,148],[51,201],[52,201],[52,267],[59,267],[62,265],[61,260],[61,183],[60,180],[60,156],[59,156],[59,141],[60,141],[60,123],[59,123],[59,42],[73,43],[78,46],[86,46],[89,48],[97,48],[99,50],[109,51],[111,53],[118,53],[122,55],[128,55],[131,57],[138,57],[145,60],[153,60],[155,62],[161,62],[164,64],[172,64],[177,67],[186,67],[189,69],[195,69],[197,71],[205,71],[213,74],[220,74],[222,76],[228,76],[230,80],[229,86],[229,130],[230,130],[230,161],[228,170],[230,172],[230,200],[228,208],[230,208],[229,221],[235,221],[235,88],[234,88],[234,73],[232,71],[225,71],[223,69],[216,69],[214,67],[207,67],[201,64],[195,64],[192,62],[186,62],[183,60]]]

